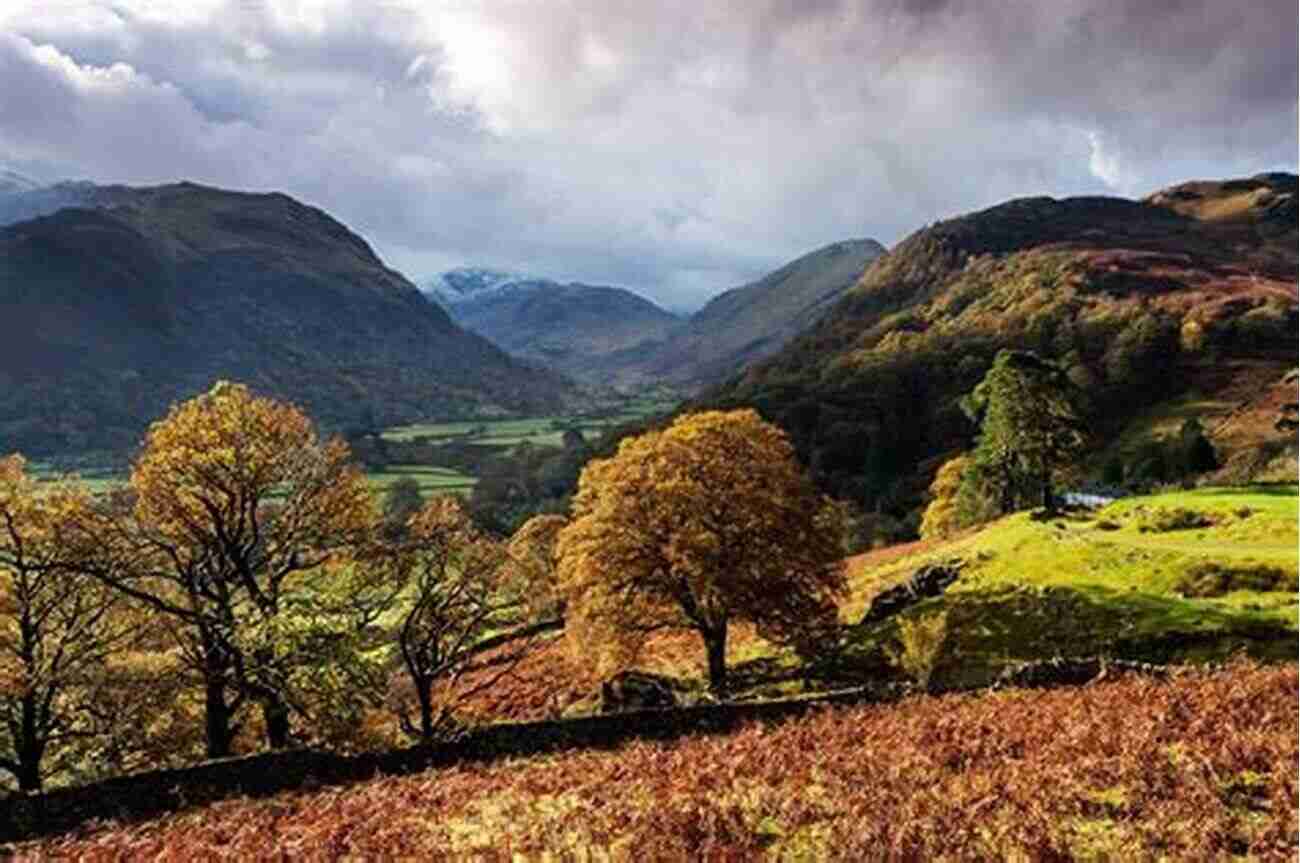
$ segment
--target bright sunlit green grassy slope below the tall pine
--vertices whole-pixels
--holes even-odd
[[[1057,655],[1294,659],[1297,516],[1295,485],[1128,498],[1048,520],[1022,512],[905,556],[864,555],[844,617],[861,619],[875,594],[924,563],[962,560],[944,597],[904,613],[946,613],[948,676]],[[879,660],[898,625],[852,632],[858,658]]]

